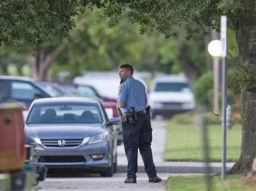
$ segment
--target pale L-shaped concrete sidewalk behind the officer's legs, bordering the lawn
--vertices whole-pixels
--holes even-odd
[[[164,146],[166,137],[167,121],[151,121],[153,129],[153,141],[152,152],[154,165],[156,166],[158,173],[205,173],[204,162],[164,162]],[[117,148],[118,154],[118,173],[125,173],[127,167],[127,159],[124,151],[124,145],[120,145]],[[234,165],[233,162],[226,163],[226,169],[231,168]],[[211,162],[211,173],[221,172],[221,162]],[[140,153],[138,152],[138,173],[144,173],[144,164]]]

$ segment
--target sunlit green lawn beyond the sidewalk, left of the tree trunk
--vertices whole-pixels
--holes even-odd
[[[221,125],[208,125],[207,129],[210,161],[220,162],[223,144]],[[226,135],[226,161],[235,162],[240,155],[241,125],[233,125]],[[171,120],[166,136],[164,161],[203,161],[202,135],[197,125],[180,124]]]

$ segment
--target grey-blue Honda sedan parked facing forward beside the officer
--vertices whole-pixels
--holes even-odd
[[[25,133],[38,144],[38,162],[50,169],[83,168],[112,176],[117,170],[119,123],[119,118],[108,119],[95,99],[41,98],[30,106]]]

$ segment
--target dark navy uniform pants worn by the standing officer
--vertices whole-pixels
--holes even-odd
[[[151,150],[152,128],[150,116],[148,114],[139,115],[138,121],[135,124],[127,121],[124,122],[122,131],[125,154],[128,160],[127,178],[136,179],[136,173],[138,171],[138,148],[142,155],[147,176],[156,176],[157,172]]]

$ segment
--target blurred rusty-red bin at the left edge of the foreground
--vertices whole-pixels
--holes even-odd
[[[0,173],[19,171],[25,160],[23,105],[0,104]]]

